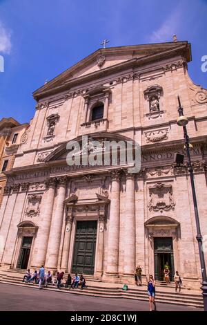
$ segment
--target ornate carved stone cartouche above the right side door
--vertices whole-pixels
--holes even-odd
[[[172,185],[157,183],[149,187],[148,208],[152,212],[163,212],[175,209],[175,201],[172,198]]]

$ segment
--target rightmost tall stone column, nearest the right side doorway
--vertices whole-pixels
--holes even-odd
[[[124,227],[124,275],[135,271],[135,176],[126,175],[126,222]]]

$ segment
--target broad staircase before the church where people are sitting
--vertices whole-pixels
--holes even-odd
[[[6,272],[0,271],[0,284],[12,284],[15,286],[24,286],[29,288],[38,289],[37,284],[25,284],[22,283],[23,275],[25,272],[21,270],[7,270]],[[66,276],[64,277],[66,280]],[[64,281],[63,281],[64,282]],[[83,290],[78,289],[68,289],[61,288],[60,290],[56,286],[48,286],[46,290],[50,291],[61,291],[63,293],[71,293],[74,295],[87,295],[93,297],[104,297],[104,298],[126,298],[126,299],[136,299],[141,301],[148,301],[148,295],[146,292],[146,284],[143,286],[128,285],[128,290],[122,290],[121,284],[109,284],[102,282],[95,277],[86,275],[86,288]],[[187,288],[182,287],[181,293],[175,293],[174,284],[166,284],[158,281],[156,286],[156,302],[163,304],[175,304],[180,306],[190,306],[203,308],[203,298],[200,291],[187,290]]]

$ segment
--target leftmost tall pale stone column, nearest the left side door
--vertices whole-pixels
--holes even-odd
[[[49,178],[49,180],[46,181],[46,187],[48,187],[48,190],[44,194],[46,195],[46,200],[43,201],[45,209],[41,213],[42,220],[37,232],[37,238],[34,242],[34,250],[32,254],[31,266],[34,268],[39,268],[41,265],[44,265],[46,261],[56,182],[56,178]]]

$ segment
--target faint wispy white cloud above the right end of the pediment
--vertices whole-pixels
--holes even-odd
[[[150,42],[172,41],[174,34],[177,34],[181,24],[181,10],[179,6],[167,17],[161,26],[152,32]]]

